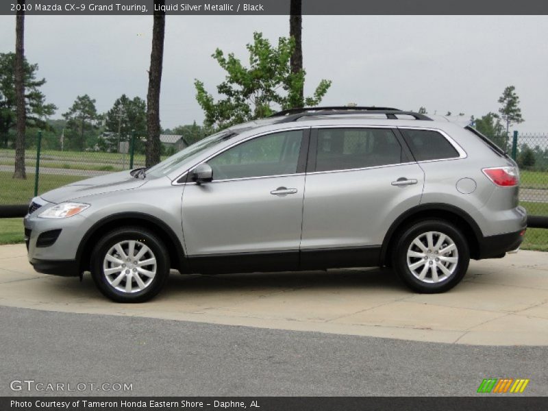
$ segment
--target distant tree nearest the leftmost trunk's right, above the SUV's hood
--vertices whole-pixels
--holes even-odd
[[[69,111],[63,114],[71,149],[82,151],[86,146],[86,133],[97,128],[100,116],[95,99],[88,95],[77,96]]]

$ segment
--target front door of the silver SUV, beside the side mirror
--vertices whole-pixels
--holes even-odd
[[[188,183],[182,199],[193,271],[298,268],[307,150],[308,132],[298,129],[246,140],[208,160],[213,181]]]

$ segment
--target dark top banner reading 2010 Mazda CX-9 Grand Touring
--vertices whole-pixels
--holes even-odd
[[[162,8],[168,15],[284,15],[289,14],[290,0],[207,1],[166,0]],[[152,14],[159,7],[153,0],[2,0],[0,14],[53,15],[142,15]],[[302,14],[310,15],[503,15],[548,14],[548,1],[541,0],[303,0]]]

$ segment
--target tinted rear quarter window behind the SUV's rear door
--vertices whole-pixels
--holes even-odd
[[[458,158],[459,153],[442,134],[433,130],[400,129],[416,161]]]

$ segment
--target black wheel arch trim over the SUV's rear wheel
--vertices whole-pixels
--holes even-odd
[[[462,230],[462,234],[469,243],[471,258],[479,258],[479,243],[480,239],[483,238],[483,234],[479,225],[477,225],[470,214],[458,207],[451,206],[450,204],[427,203],[407,210],[390,225],[382,242],[381,264],[390,266],[391,253],[395,241],[397,240],[397,234],[401,232],[404,227],[408,227],[416,221],[427,219],[442,219],[456,225]]]

